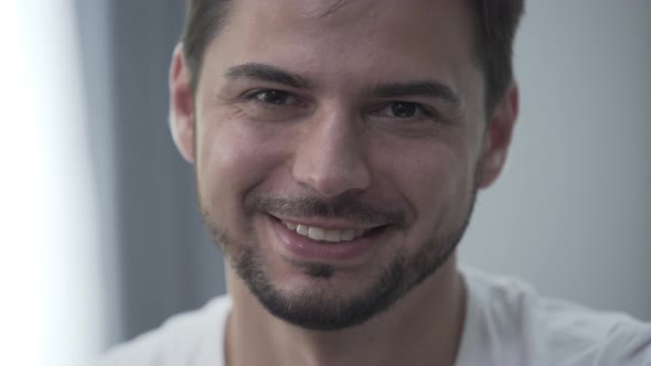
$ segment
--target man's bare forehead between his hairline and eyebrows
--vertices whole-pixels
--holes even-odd
[[[445,79],[472,60],[466,1],[232,0],[227,19],[206,53],[224,68],[260,62],[332,83]]]

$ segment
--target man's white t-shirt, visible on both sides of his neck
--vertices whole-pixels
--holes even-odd
[[[456,366],[651,366],[651,324],[537,297],[521,281],[463,270],[468,308]],[[224,366],[231,300],[177,315],[102,366]]]

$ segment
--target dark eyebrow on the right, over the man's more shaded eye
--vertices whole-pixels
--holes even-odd
[[[370,90],[380,98],[434,97],[459,104],[459,97],[452,89],[438,82],[407,82],[382,84]]]

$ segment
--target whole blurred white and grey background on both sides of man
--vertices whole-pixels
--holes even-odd
[[[10,1],[2,359],[86,365],[225,291],[168,131],[183,0]],[[521,117],[461,261],[651,321],[651,2],[530,0]]]

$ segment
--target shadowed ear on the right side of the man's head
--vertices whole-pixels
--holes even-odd
[[[500,175],[511,144],[519,110],[517,85],[512,83],[493,109],[483,141],[479,187],[485,189]]]

